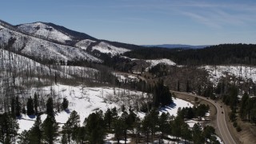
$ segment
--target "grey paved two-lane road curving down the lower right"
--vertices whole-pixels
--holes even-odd
[[[207,102],[212,103],[217,110],[217,127],[218,127],[218,131],[221,134],[222,140],[225,144],[235,144],[236,142],[234,141],[234,138],[231,136],[230,134],[230,130],[228,129],[227,125],[226,125],[226,118],[225,118],[225,111],[223,110],[223,108],[221,107],[221,105],[218,102],[215,102],[214,100],[211,99],[207,99],[205,97],[201,97],[201,96],[197,96],[194,94],[187,94],[187,93],[182,93],[182,92],[174,92],[174,93],[180,93],[180,94],[186,94],[186,95],[190,95],[193,97],[198,97],[201,98]],[[223,114],[222,114],[223,112]]]

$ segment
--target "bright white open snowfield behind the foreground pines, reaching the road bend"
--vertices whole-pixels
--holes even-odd
[[[108,108],[116,107],[118,113],[121,114],[121,107],[126,106],[128,110],[129,106],[137,106],[139,100],[142,98],[145,100],[147,94],[143,94],[140,91],[125,90],[113,87],[83,87],[83,86],[66,86],[66,85],[54,85],[46,86],[42,88],[34,88],[30,90],[31,94],[37,92],[39,95],[47,95],[53,93],[58,95],[59,98],[67,98],[69,101],[69,112],[62,111],[55,115],[56,121],[59,123],[65,123],[70,116],[70,112],[76,110],[80,115],[80,124],[91,113],[96,110],[102,110],[105,112]],[[177,115],[178,107],[193,106],[190,102],[186,102],[182,99],[174,99],[174,103],[170,106],[166,106],[160,110],[160,113],[169,113],[170,115]],[[146,114],[139,113],[140,118],[143,118]],[[46,118],[46,114],[42,114],[42,121]],[[29,118],[26,115],[22,116],[22,119],[18,120],[20,124],[19,133],[22,130],[29,130],[33,126],[36,118]],[[29,121],[29,122],[28,122]]]

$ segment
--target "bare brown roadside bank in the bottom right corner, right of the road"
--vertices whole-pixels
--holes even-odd
[[[236,130],[236,128],[233,126],[233,123],[230,122],[230,118],[228,116],[230,110],[230,107],[223,106],[226,114],[226,122],[227,126],[230,130],[230,134],[235,138],[237,143],[243,143],[243,144],[255,144],[256,143],[256,126],[253,125],[250,122],[242,121],[241,118],[237,116],[236,122],[238,122],[238,126],[242,128],[240,132]]]

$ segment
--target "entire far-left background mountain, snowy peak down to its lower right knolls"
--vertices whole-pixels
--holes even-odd
[[[51,42],[57,42],[62,45],[79,47],[82,50],[98,50],[100,53],[110,54],[111,56],[130,51],[126,48],[113,46],[109,42],[103,42],[102,40],[90,37],[87,34],[75,32],[73,30],[66,29],[63,26],[57,26],[52,23],[34,22],[21,24],[16,27],[18,30],[24,31],[27,34],[31,34],[35,37],[44,38]],[[88,50],[87,48],[91,49]]]

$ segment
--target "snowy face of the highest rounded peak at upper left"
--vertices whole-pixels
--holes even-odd
[[[63,34],[62,32],[55,30],[52,26],[47,26],[42,22],[22,24],[18,26],[18,29],[29,34],[49,38],[62,43],[72,40],[70,36]]]

